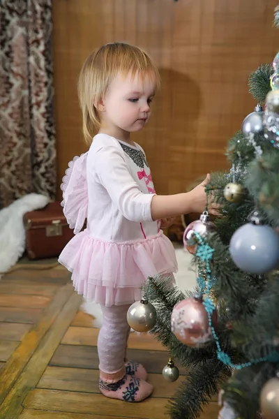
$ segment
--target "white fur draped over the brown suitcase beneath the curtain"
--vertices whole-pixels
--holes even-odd
[[[29,193],[0,211],[0,278],[25,250],[24,214],[45,207],[49,201],[47,196]]]

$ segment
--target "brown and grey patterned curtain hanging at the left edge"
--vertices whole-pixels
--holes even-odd
[[[0,0],[0,207],[56,193],[52,0]]]

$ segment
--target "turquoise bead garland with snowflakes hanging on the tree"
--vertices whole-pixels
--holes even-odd
[[[202,278],[201,276],[199,276],[197,278],[197,285],[199,287],[199,292],[202,295],[206,295],[206,297],[204,298],[203,304],[204,304],[204,308],[206,309],[206,312],[209,316],[209,327],[211,328],[211,332],[214,338],[214,341],[216,343],[216,347],[217,347],[217,358],[218,360],[220,360],[221,362],[223,362],[223,364],[227,365],[228,367],[234,368],[234,369],[242,369],[245,367],[250,367],[251,365],[255,365],[258,364],[259,362],[266,362],[266,361],[270,361],[270,362],[278,362],[279,361],[279,353],[272,353],[271,355],[267,356],[266,358],[257,358],[255,360],[251,360],[249,362],[244,362],[243,364],[234,364],[232,362],[232,358],[230,358],[230,356],[225,353],[224,351],[222,351],[222,348],[220,346],[220,341],[218,339],[218,336],[216,335],[216,331],[213,327],[212,324],[212,313],[213,310],[215,309],[215,306],[209,296],[209,293],[212,289],[212,287],[214,286],[215,282],[216,282],[216,278],[213,277],[211,278],[211,269],[210,269],[210,260],[213,257],[213,253],[215,251],[215,249],[212,249],[212,247],[209,246],[209,244],[205,243],[204,240],[202,239],[202,237],[199,235],[199,233],[195,233],[195,236],[197,238],[197,251],[195,253],[195,256],[197,256],[197,258],[199,258],[202,262],[206,263],[206,281],[204,280],[204,278]]]

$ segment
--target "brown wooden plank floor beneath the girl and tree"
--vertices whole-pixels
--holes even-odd
[[[167,353],[151,335],[130,335],[128,355],[148,370],[152,397],[133,404],[100,394],[98,329],[81,301],[62,267],[27,267],[1,279],[0,419],[167,418],[165,406],[183,376],[164,381]],[[215,399],[201,418],[217,416]]]

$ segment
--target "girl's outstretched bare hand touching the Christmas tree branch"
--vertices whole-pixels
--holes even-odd
[[[192,212],[203,212],[206,207],[206,192],[204,191],[210,182],[210,175],[207,174],[204,181],[197,185],[193,191],[190,191],[191,210]],[[209,196],[208,210],[209,214],[219,215],[221,205],[212,202],[212,196]]]

